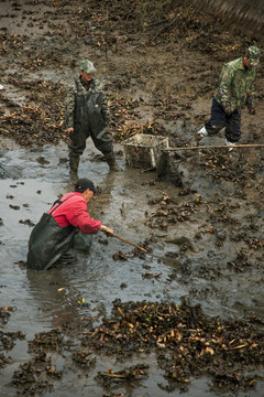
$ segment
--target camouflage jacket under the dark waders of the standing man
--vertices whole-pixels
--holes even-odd
[[[65,126],[66,128],[74,127],[75,125],[75,115],[76,115],[76,106],[77,106],[77,95],[82,95],[87,99],[91,96],[95,97],[96,101],[100,101],[101,115],[107,124],[110,120],[110,110],[107,101],[107,97],[102,89],[102,84],[98,82],[96,78],[89,84],[85,84],[80,81],[80,78],[76,79],[67,89],[66,94],[66,103],[65,103]],[[89,104],[89,100],[87,100]],[[87,109],[87,114],[92,111],[92,109]]]

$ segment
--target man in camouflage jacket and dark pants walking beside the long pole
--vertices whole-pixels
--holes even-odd
[[[260,56],[261,50],[252,45],[243,56],[223,66],[212,98],[211,118],[197,132],[197,143],[222,128],[226,128],[226,144],[234,146],[240,140],[241,109],[248,106],[250,115],[255,115],[254,81]]]

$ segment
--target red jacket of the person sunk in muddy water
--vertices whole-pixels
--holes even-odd
[[[69,198],[68,198],[69,197]],[[66,200],[68,198],[68,200]],[[97,233],[100,229],[101,222],[95,221],[87,212],[87,202],[82,197],[81,193],[72,192],[67,193],[62,202],[56,203],[47,214],[52,213],[52,216],[62,227],[73,225],[77,227],[82,233]],[[55,208],[55,211],[53,211]]]

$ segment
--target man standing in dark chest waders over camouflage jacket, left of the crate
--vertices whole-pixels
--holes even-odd
[[[96,68],[90,61],[79,64],[79,78],[67,90],[65,106],[65,124],[70,137],[69,168],[70,175],[77,178],[79,158],[86,148],[86,139],[91,137],[96,148],[100,150],[112,171],[119,171],[113,155],[112,138],[106,126],[110,120],[107,98],[102,84],[94,74]]]

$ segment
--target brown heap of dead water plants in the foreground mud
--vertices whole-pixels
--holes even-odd
[[[1,308],[1,318],[11,310]],[[121,396],[118,389],[136,388],[136,384],[147,379],[152,368],[144,362],[144,355],[152,353],[164,372],[158,388],[166,393],[188,393],[191,378],[208,374],[215,388],[232,391],[246,391],[263,379],[258,372],[264,360],[263,322],[255,318],[248,322],[221,322],[219,318],[208,319],[199,307],[191,308],[186,302],[176,305],[114,301],[110,319],[96,328],[95,320],[86,315],[78,319],[78,324],[76,320],[65,322],[59,330],[35,334],[29,342],[29,353],[34,360],[19,366],[11,385],[19,388],[20,395],[52,390],[53,384],[63,377],[63,371],[54,363],[57,354],[68,355],[72,365],[87,376],[96,367],[98,354],[116,357],[121,371],[109,368],[95,377],[105,389],[103,396]],[[7,341],[13,344],[19,337],[24,335],[6,333],[4,348]],[[128,357],[131,360],[135,354],[140,363],[128,367]],[[8,362],[2,355],[1,365]]]

